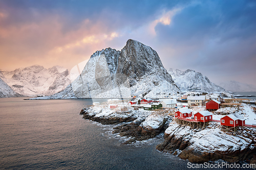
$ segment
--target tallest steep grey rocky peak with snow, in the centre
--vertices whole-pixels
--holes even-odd
[[[130,39],[121,51],[95,52],[65,90],[42,99],[156,97],[177,91],[157,52]]]

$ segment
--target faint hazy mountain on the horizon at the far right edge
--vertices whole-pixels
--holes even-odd
[[[252,84],[241,83],[237,81],[222,82],[219,84],[227,91],[232,92],[251,92],[256,91],[256,86]]]

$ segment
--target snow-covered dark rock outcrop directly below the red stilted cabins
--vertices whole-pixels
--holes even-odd
[[[247,136],[247,130],[251,136]],[[170,123],[165,130],[165,141],[157,145],[164,152],[179,150],[179,157],[190,162],[225,160],[238,162],[251,159],[256,148],[252,139],[256,136],[253,128],[240,128],[237,135],[221,131],[218,123],[211,122],[205,129]]]

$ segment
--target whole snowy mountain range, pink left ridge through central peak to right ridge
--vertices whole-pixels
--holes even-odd
[[[73,82],[68,69],[60,66],[0,70],[0,78],[1,97],[22,94],[48,95],[41,99],[130,98],[131,95],[161,98],[180,90],[224,90],[195,70],[167,71],[155,50],[132,39],[121,51],[105,48],[95,52]]]

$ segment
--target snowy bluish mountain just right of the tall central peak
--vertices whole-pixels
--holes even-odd
[[[199,90],[199,91],[215,91],[224,90],[224,88],[210,82],[210,80],[195,70],[187,69],[181,71],[179,69],[169,68],[169,74],[172,75],[174,82],[180,90]]]

